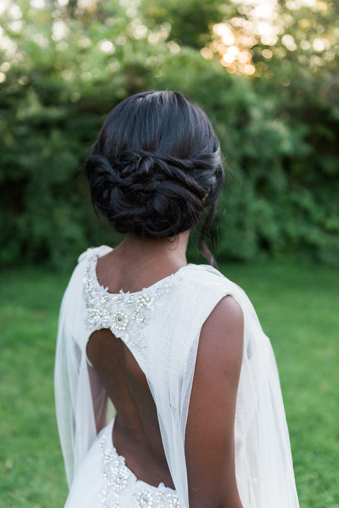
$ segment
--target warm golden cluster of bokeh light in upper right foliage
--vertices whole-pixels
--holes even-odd
[[[318,69],[335,58],[337,35],[335,29],[326,33],[308,11],[327,15],[329,8],[333,5],[322,0],[287,0],[285,6],[277,0],[247,0],[236,15],[225,16],[213,26],[211,39],[200,53],[207,60],[219,56],[231,74],[259,76],[267,70],[259,55],[271,60],[288,52],[295,52],[302,65]]]

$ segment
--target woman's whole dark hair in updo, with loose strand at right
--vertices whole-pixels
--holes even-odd
[[[198,224],[199,249],[213,223],[224,171],[204,111],[179,92],[136,93],[107,116],[85,163],[92,203],[119,232],[173,237]]]

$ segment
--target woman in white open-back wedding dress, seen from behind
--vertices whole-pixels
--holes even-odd
[[[214,264],[204,234],[223,168],[205,113],[178,92],[135,94],[108,115],[85,172],[127,235],[80,256],[62,301],[66,506],[297,507],[269,340],[239,287],[186,261],[206,211],[200,249]]]

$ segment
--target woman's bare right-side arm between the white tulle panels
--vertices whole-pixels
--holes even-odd
[[[240,305],[220,300],[201,329],[185,457],[190,508],[241,508],[235,482],[234,418],[243,357]]]

